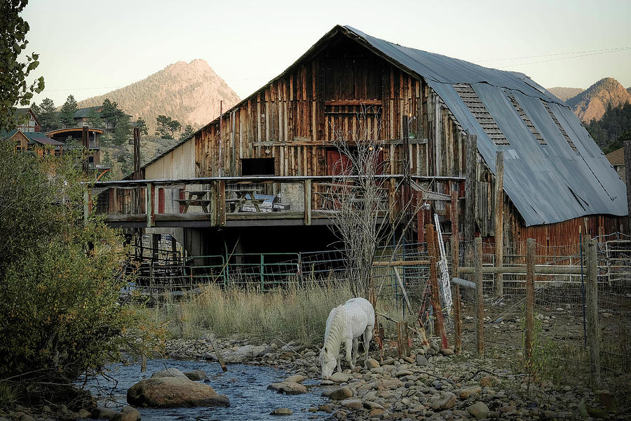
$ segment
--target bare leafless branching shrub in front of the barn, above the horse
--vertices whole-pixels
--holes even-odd
[[[372,262],[378,247],[405,222],[402,210],[409,206],[405,203],[397,210],[390,200],[390,180],[381,177],[391,171],[377,140],[381,121],[375,117],[369,122],[369,114],[365,109],[357,114],[355,131],[332,128],[339,159],[332,168],[331,187],[323,196],[323,208],[332,210],[333,232],[344,243],[348,279],[353,279],[351,292],[364,298],[370,297]]]

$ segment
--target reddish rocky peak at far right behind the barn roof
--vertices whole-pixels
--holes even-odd
[[[592,119],[601,119],[609,105],[620,107],[631,102],[631,93],[616,79],[607,77],[565,102],[574,109],[579,119],[590,122]]]

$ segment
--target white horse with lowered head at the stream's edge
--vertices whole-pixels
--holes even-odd
[[[341,372],[339,364],[339,349],[342,343],[346,349],[346,361],[355,368],[358,353],[358,338],[364,335],[364,367],[368,361],[368,348],[372,339],[374,327],[374,308],[368,300],[363,298],[351,298],[331,310],[327,319],[324,346],[320,350],[320,364],[322,365],[322,378],[328,380],[333,374],[337,363],[337,370]],[[353,359],[351,359],[351,344]]]

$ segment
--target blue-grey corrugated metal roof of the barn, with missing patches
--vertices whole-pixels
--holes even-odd
[[[425,78],[463,130],[477,135],[477,149],[491,171],[496,151],[504,151],[504,191],[526,225],[627,215],[625,185],[609,161],[571,109],[528,76],[400,46],[348,26],[344,32]],[[508,145],[497,145],[484,131],[456,91],[463,84],[472,88]]]

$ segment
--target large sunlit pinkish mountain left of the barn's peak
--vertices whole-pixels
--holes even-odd
[[[182,126],[199,128],[219,116],[219,101],[224,110],[235,105],[239,98],[205,60],[177,62],[146,79],[80,101],[79,107],[101,105],[105,98],[118,102],[118,107],[133,119],[140,116],[147,121],[149,132],[156,128],[160,114],[176,119]]]

